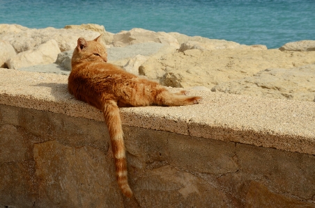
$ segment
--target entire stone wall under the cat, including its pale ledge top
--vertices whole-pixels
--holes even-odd
[[[121,109],[128,199],[68,77],[0,74],[1,208],[315,207],[314,102],[190,90],[201,104]]]

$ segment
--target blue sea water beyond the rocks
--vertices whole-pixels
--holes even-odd
[[[315,0],[0,0],[0,23],[41,29],[100,24],[118,33],[138,27],[277,48],[315,40]]]

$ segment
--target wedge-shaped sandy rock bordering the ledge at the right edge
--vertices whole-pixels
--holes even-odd
[[[314,101],[315,64],[291,69],[267,69],[253,77],[220,83],[213,92],[254,97]]]

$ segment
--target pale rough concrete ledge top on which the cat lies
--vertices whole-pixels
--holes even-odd
[[[68,76],[9,69],[0,74],[0,104],[103,120],[100,111],[68,93]],[[203,102],[123,108],[123,125],[315,154],[315,102],[197,90],[190,95]]]

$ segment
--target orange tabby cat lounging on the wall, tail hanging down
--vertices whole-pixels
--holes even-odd
[[[199,103],[201,97],[185,96],[185,91],[169,93],[154,81],[139,78],[107,63],[107,53],[100,44],[100,36],[91,41],[79,38],[71,64],[68,90],[77,99],[103,112],[114,154],[116,179],[123,194],[131,197],[118,107],[190,105]]]

